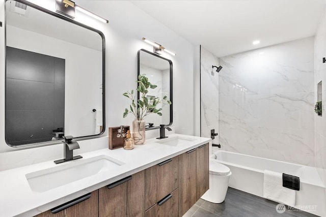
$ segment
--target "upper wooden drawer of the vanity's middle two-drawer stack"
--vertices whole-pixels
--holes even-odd
[[[178,188],[178,156],[145,170],[145,209]]]

